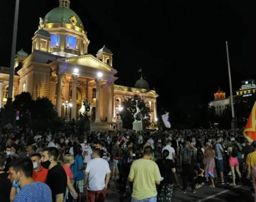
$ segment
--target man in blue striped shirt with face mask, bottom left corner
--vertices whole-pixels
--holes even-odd
[[[13,202],[51,202],[52,194],[49,186],[42,182],[34,182],[33,163],[28,158],[18,158],[10,164],[8,179],[12,182],[10,199]],[[18,194],[15,190],[20,188]]]

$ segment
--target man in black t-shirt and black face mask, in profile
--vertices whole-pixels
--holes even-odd
[[[57,164],[59,151],[49,147],[42,153],[41,166],[49,169],[46,184],[52,190],[53,202],[63,202],[67,188],[67,175],[62,166]]]

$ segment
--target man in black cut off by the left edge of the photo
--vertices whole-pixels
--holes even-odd
[[[0,196],[1,202],[10,201],[11,182],[7,178],[8,173],[4,172],[4,165],[6,163],[6,154],[0,153]]]

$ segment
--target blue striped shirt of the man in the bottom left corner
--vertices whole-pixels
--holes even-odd
[[[52,192],[42,182],[28,184],[20,189],[13,202],[52,202]]]

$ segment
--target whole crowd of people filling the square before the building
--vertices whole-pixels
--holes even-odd
[[[132,202],[171,202],[174,187],[186,194],[251,180],[254,196],[255,166],[256,141],[245,139],[241,129],[78,136],[76,130],[33,133],[25,127],[0,134],[1,202],[81,202],[83,195],[88,202],[103,202],[110,180],[120,195],[131,194]]]

